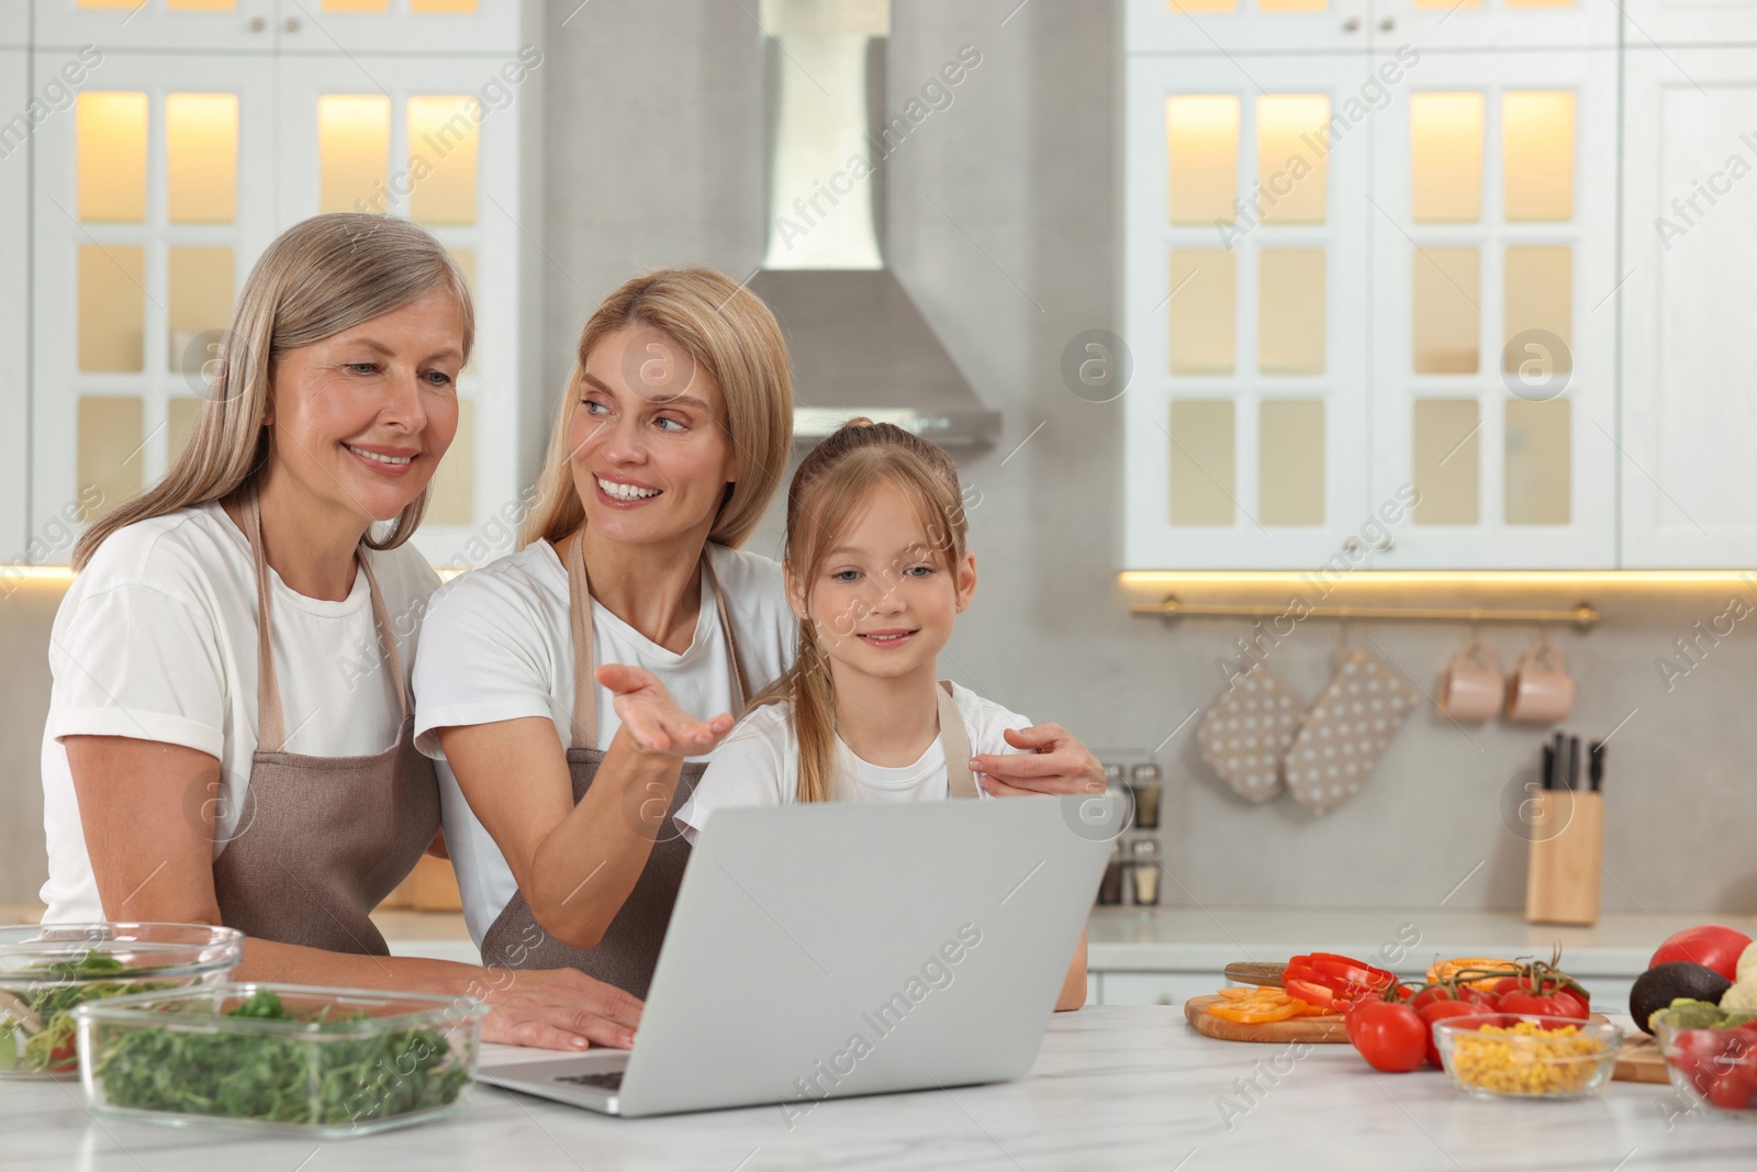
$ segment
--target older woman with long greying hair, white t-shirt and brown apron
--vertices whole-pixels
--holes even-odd
[[[404,543],[473,334],[413,223],[318,216],[257,262],[186,450],[74,552],[46,919],[223,922],[246,979],[474,993],[499,1040],[627,1045],[617,989],[390,958],[367,917],[439,829],[404,673],[439,582]]]

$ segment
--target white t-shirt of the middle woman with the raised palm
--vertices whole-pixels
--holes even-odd
[[[724,545],[710,543],[706,550],[726,590],[726,610],[756,694],[787,669],[798,638],[780,562]],[[599,666],[622,662],[652,671],[683,712],[738,715],[733,661],[706,575],[687,650],[659,647],[594,599],[592,655]],[[573,747],[568,569],[548,541],[534,541],[448,582],[432,599],[415,664],[415,743],[439,763],[446,852],[457,870],[464,922],[478,947],[518,882],[464,799],[434,729],[522,717],[548,717],[562,747]],[[608,747],[618,727],[610,689],[599,687],[597,747]]]

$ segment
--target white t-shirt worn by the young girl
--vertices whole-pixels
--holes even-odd
[[[1007,729],[1031,722],[970,689],[952,684],[952,701],[965,720],[972,754],[1019,754],[1007,743]],[[713,764],[694,796],[676,812],[683,836],[696,842],[708,815],[733,807],[787,805],[799,792],[799,738],[792,731],[792,705],[764,705],[726,734]],[[945,738],[935,736],[914,764],[889,768],[861,761],[836,738],[836,801],[945,801]],[[977,785],[977,794],[987,791]]]

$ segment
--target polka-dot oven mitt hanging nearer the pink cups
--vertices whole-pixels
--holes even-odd
[[[1360,789],[1385,756],[1416,689],[1365,652],[1353,652],[1305,713],[1283,761],[1293,799],[1327,814]]]

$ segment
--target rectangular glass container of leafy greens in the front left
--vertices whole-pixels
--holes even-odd
[[[98,1116],[341,1139],[462,1111],[487,1012],[473,996],[242,982],[74,1016]]]

